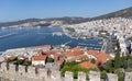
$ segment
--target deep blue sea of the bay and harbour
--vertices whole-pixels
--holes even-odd
[[[63,35],[53,35],[53,33],[59,32]],[[12,35],[11,35],[12,34]],[[7,36],[9,35],[9,36]],[[0,30],[0,51],[12,48],[41,46],[41,45],[62,45],[76,47],[79,44],[85,45],[88,49],[101,49],[98,45],[102,39],[89,38],[89,39],[75,39],[65,35],[61,27],[43,26],[41,28],[7,28]],[[82,45],[81,45],[82,46]]]

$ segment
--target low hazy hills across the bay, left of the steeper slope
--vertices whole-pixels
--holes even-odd
[[[76,24],[76,23],[81,23],[88,21],[88,18],[51,18],[51,19],[26,19],[26,20],[20,20],[20,21],[14,21],[14,22],[6,22],[6,23],[0,23],[0,26],[10,26],[10,25],[18,25],[18,24],[23,24],[23,23],[30,23],[30,22],[40,22],[40,21],[63,21],[64,24]]]

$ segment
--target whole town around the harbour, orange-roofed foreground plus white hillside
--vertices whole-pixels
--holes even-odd
[[[123,70],[131,70],[131,19],[112,18],[80,24],[63,25],[62,28],[64,33],[72,38],[101,38],[102,46],[100,50],[86,49],[79,45],[74,48],[65,45],[14,48],[0,53],[0,63],[8,62],[30,66],[43,68],[47,71],[57,70],[62,72],[62,76],[65,71],[72,70],[75,72],[75,78],[76,71],[88,72],[88,70],[96,70],[101,72],[102,79],[106,79],[106,77],[103,77],[106,72],[114,72],[122,67],[117,59],[128,58],[127,62],[129,61],[128,65],[130,66],[124,65],[125,69],[123,68]],[[110,61],[113,62],[110,63]],[[118,65],[120,63],[120,66],[117,66],[117,62]],[[112,67],[108,68],[107,65],[114,65],[113,70],[111,70]],[[122,78],[122,76],[120,78]]]

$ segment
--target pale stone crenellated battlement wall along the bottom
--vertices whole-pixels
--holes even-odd
[[[46,70],[44,68],[16,66],[13,63],[0,63],[0,81],[4,79],[9,81],[101,81],[100,72],[90,71],[89,80],[85,72],[78,72],[78,79],[74,79],[74,73],[66,71],[65,77],[61,76],[61,71]],[[118,76],[107,73],[106,81],[118,81]],[[124,81],[132,81],[132,72],[124,73]]]

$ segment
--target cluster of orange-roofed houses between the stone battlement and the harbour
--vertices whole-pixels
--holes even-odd
[[[16,48],[6,50],[1,57],[0,62],[11,60],[23,61],[24,65],[31,61],[31,66],[44,67],[46,69],[59,70],[65,62],[80,62],[78,63],[84,68],[97,68],[98,63],[105,63],[112,57],[108,54],[100,53],[98,50],[84,50],[79,47],[67,48],[65,50],[56,49],[50,45]],[[94,63],[91,62],[94,60]],[[12,61],[12,62],[16,62]]]

